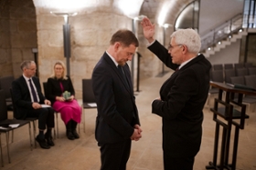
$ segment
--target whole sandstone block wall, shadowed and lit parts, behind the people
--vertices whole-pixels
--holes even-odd
[[[33,0],[0,2],[0,69],[3,70],[0,76],[21,75],[20,63],[24,60],[35,60],[32,48],[38,49],[37,75],[41,83],[46,82],[52,75],[56,61],[66,63],[63,52],[64,18],[50,14],[53,9],[47,6],[35,7],[34,4]],[[69,25],[70,77],[77,97],[80,98],[81,79],[91,78],[92,70],[109,46],[112,34],[121,28],[133,30],[133,22],[109,2],[108,5],[99,4],[91,9],[80,10],[78,15],[69,17]],[[140,61],[140,79],[158,75],[162,63],[147,50],[140,22],[137,22],[136,26],[134,31],[140,41],[137,51],[143,55]],[[157,28],[157,39],[162,41],[160,28]],[[131,62],[128,65],[131,67]],[[133,65],[133,78],[135,88],[136,61]]]

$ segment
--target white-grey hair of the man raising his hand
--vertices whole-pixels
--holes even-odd
[[[200,35],[194,29],[178,29],[171,35],[175,38],[176,45],[186,45],[190,53],[198,54],[201,48]]]

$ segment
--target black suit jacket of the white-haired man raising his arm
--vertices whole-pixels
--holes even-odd
[[[176,69],[157,41],[148,47],[166,66]],[[160,89],[152,112],[163,118],[163,148],[172,156],[195,156],[202,136],[203,108],[208,97],[210,63],[197,55],[169,77]]]

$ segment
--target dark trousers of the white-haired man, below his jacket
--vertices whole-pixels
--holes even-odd
[[[165,170],[193,170],[195,157],[173,157],[164,151]]]

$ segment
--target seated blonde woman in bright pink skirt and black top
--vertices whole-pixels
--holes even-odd
[[[80,138],[76,128],[80,123],[81,108],[75,100],[75,91],[69,76],[65,76],[65,65],[57,62],[54,65],[54,74],[48,78],[46,97],[51,101],[52,107],[59,112],[67,128],[67,137],[70,140]],[[65,98],[62,94],[68,91],[70,96]]]

